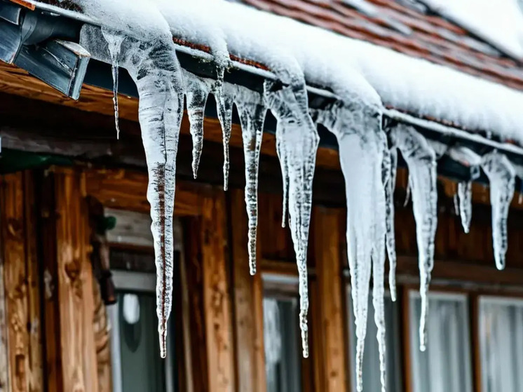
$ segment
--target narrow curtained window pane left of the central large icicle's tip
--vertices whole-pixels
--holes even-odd
[[[264,298],[267,391],[301,391],[301,335],[294,297]]]

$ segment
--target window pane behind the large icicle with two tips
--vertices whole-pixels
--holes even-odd
[[[352,304],[351,292],[348,290],[348,302]],[[355,318],[352,308],[349,309],[351,332],[351,384],[352,391],[356,391],[356,330]],[[363,391],[381,391],[379,379],[379,351],[378,328],[374,323],[374,306],[372,297],[369,297],[369,314],[367,323],[367,334],[365,335],[365,352],[363,354]],[[400,392],[401,388],[401,364],[399,355],[399,324],[398,324],[398,302],[392,302],[389,296],[385,297],[385,344],[386,344],[386,388],[388,392]]]

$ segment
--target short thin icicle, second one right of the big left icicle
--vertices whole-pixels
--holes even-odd
[[[224,83],[216,90],[216,104],[218,119],[222,125],[222,137],[224,144],[224,190],[229,188],[229,142],[231,140],[231,128],[233,123],[233,104],[236,88]]]

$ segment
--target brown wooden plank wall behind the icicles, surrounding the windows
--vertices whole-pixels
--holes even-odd
[[[418,275],[412,205],[396,203],[398,275]],[[519,208],[509,219],[507,271],[492,255],[488,192],[475,189],[473,224],[463,234],[454,185],[440,186],[435,278],[521,285]],[[90,266],[86,196],[146,212],[147,175],[128,170],[51,168],[1,177],[0,391],[110,391],[107,318]],[[485,199],[487,197],[487,199]],[[261,273],[296,275],[280,194],[259,195],[258,263],[249,275],[243,190],[179,182],[182,219],[186,391],[265,391]],[[305,391],[345,391],[345,210],[315,205],[308,248],[311,358]],[[2,287],[3,286],[3,287]],[[182,306],[182,307],[183,307]],[[183,371],[185,371],[183,370]],[[202,377],[202,375],[204,377]]]

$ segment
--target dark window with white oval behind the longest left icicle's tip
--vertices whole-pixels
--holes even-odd
[[[174,331],[160,358],[156,275],[114,271],[118,302],[109,306],[114,392],[175,392]]]

